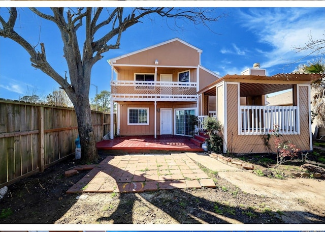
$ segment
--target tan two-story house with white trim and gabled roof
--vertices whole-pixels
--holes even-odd
[[[215,110],[202,108],[198,92],[219,78],[201,66],[201,53],[201,49],[175,38],[110,59],[111,109],[114,102],[117,104],[116,134],[155,138],[191,135],[189,115]],[[111,122],[111,139],[113,130]]]

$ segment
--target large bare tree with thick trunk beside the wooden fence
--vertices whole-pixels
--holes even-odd
[[[215,22],[215,9],[188,8],[78,8],[69,9],[65,14],[63,8],[51,8],[51,14],[43,13],[43,9],[30,8],[40,18],[56,24],[63,41],[63,53],[69,68],[70,82],[52,68],[46,58],[45,44],[40,43],[38,49],[15,31],[17,9],[10,8],[9,16],[0,16],[0,36],[8,37],[20,44],[30,55],[31,66],[42,70],[52,77],[68,94],[77,115],[78,131],[81,143],[83,162],[97,162],[98,154],[91,124],[89,103],[90,73],[93,65],[103,58],[103,53],[110,49],[118,49],[122,33],[150,15],[185,20],[193,24]],[[77,32],[83,28],[85,40],[82,50],[79,47]],[[106,33],[103,35],[103,30]],[[101,31],[101,33],[99,33]],[[96,38],[96,39],[94,39]]]

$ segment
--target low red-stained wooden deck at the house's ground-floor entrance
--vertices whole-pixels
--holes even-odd
[[[190,137],[153,135],[116,137],[96,143],[99,154],[203,152]]]

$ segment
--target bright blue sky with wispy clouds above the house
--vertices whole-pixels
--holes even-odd
[[[260,63],[261,68],[267,69],[267,75],[288,73],[299,63],[307,62],[304,59],[292,64],[307,54],[296,52],[294,47],[307,43],[310,35],[322,38],[325,34],[324,9],[223,7],[218,8],[217,13],[227,16],[209,24],[211,30],[186,21],[178,21],[181,28],[175,28],[173,20],[166,21],[158,16],[152,16],[153,21],[145,18],[143,23],[124,32],[120,49],[105,53],[104,59],[94,65],[91,83],[98,86],[98,92],[110,90],[108,59],[175,37],[202,49],[201,65],[221,76],[240,74],[253,63]],[[6,12],[6,8],[0,9],[0,14]],[[20,8],[15,30],[33,45],[43,42],[49,63],[64,76],[68,68],[60,35],[53,23],[31,14],[27,8]],[[30,66],[28,53],[15,42],[0,37],[0,46],[0,98],[17,100],[27,94],[27,89],[46,96],[59,87],[49,76]],[[89,98],[95,93],[96,88],[91,85]]]

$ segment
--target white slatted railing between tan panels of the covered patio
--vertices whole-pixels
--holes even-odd
[[[299,134],[298,106],[240,106],[239,135],[262,135],[279,126],[279,134]]]

